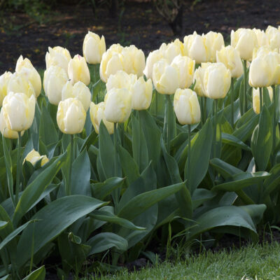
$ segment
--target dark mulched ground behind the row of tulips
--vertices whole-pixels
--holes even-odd
[[[280,1],[278,0],[186,0],[183,9],[183,35],[210,30],[221,31],[229,41],[230,31],[238,27],[280,25]],[[94,18],[90,6],[57,6],[46,18],[38,20],[22,13],[1,13],[0,18],[0,74],[13,71],[20,55],[29,57],[34,66],[45,67],[48,46],[62,45],[71,55],[82,54],[83,38],[87,30],[104,35],[106,45],[134,44],[146,55],[159,48],[162,42],[174,40],[165,19],[151,3],[128,3],[123,16],[110,18],[109,10],[97,8]],[[120,22],[120,24],[119,24]],[[179,36],[183,39],[183,36]]]

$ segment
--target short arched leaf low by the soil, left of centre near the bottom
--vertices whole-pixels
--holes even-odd
[[[99,233],[98,235],[95,235],[90,240],[88,240],[87,245],[92,247],[88,255],[101,253],[113,247],[116,247],[120,251],[126,251],[128,246],[126,239],[120,237],[119,235],[116,235],[113,232]]]

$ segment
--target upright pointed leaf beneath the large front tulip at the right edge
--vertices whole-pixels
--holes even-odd
[[[265,171],[272,151],[272,120],[267,106],[262,107],[259,123],[253,131],[251,149],[258,170]]]

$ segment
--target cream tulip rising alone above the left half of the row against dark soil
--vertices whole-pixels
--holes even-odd
[[[104,52],[106,52],[104,36],[100,39],[97,34],[88,31],[85,35],[85,40],[83,41],[83,56],[87,63],[100,63]]]

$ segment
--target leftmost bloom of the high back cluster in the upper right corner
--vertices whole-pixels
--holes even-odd
[[[239,28],[230,34],[231,45],[239,51],[241,59],[251,61],[253,49],[258,47],[258,39],[252,29]]]

